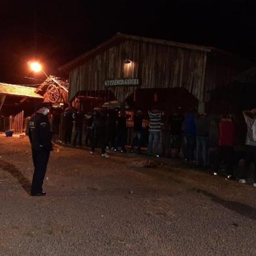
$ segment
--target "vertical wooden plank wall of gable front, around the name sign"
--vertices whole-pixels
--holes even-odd
[[[125,58],[131,59],[125,64]],[[197,99],[203,97],[206,52],[127,40],[108,48],[70,73],[70,94],[78,91],[103,90],[104,80],[139,78],[138,88],[185,88]],[[123,101],[136,87],[112,88]]]

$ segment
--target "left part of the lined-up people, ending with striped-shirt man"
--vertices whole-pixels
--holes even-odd
[[[69,106],[63,113],[63,127],[65,127],[64,142],[73,146],[82,146],[82,133],[85,121],[85,144],[86,146],[91,146],[91,154],[95,152],[95,146],[100,146],[101,154],[105,157],[108,157],[106,149],[126,153],[127,120],[129,118],[130,115],[125,112],[125,109],[95,108],[93,112],[85,115],[82,111]],[[148,112],[148,116],[144,116],[140,110],[135,112],[130,152],[142,153],[142,144],[147,144],[143,134],[143,120],[148,120],[149,123],[148,154],[159,156],[161,152],[159,145],[161,144],[161,126],[163,121],[161,111],[157,110],[155,106]],[[74,134],[72,136],[73,123]],[[71,141],[72,138],[73,140]]]

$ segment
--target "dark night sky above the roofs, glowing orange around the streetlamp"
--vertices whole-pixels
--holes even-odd
[[[1,1],[3,2],[3,1]],[[0,81],[33,84],[29,59],[48,74],[116,32],[215,46],[256,62],[256,1],[5,1]]]

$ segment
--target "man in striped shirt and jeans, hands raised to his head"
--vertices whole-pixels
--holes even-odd
[[[150,129],[148,138],[148,155],[155,155],[159,157],[160,154],[160,139],[161,139],[161,125],[162,125],[162,113],[157,110],[156,106],[152,107],[151,111],[148,111],[150,118]]]

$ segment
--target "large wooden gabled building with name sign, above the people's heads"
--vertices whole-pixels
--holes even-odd
[[[224,88],[249,65],[216,48],[118,33],[59,71],[69,73],[70,100],[114,95],[120,101],[143,101],[145,108],[158,102],[165,109],[172,104],[168,95],[178,97],[184,108],[210,101],[213,89]]]

